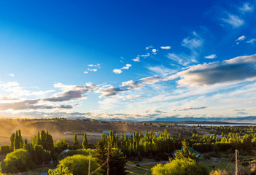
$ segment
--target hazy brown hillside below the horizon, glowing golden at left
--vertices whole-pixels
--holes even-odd
[[[7,119],[0,120],[0,144],[9,144],[9,136],[16,130],[20,129],[23,138],[31,140],[38,131],[49,131],[53,139],[65,138],[66,141],[72,142],[74,133],[77,133],[77,139],[82,142],[83,133],[87,133],[88,141],[94,142],[101,138],[102,131],[112,130],[117,133],[133,133],[134,131],[155,131],[163,132],[168,130],[169,133],[177,135],[181,131],[192,132],[192,128],[165,128],[145,126],[142,123],[93,123],[92,121],[82,120],[17,120]],[[69,132],[67,134],[64,134]],[[202,131],[203,132],[203,131]],[[80,142],[80,143],[81,143]]]

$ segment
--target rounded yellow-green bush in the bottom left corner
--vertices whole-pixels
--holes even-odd
[[[18,172],[28,171],[32,165],[28,150],[16,149],[8,153],[7,157],[1,162],[1,172],[4,174],[17,174]]]

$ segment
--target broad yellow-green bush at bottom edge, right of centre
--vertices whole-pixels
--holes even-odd
[[[195,160],[190,158],[182,158],[172,160],[170,163],[158,164],[152,169],[152,175],[168,174],[168,175],[206,175],[206,168],[200,166]]]

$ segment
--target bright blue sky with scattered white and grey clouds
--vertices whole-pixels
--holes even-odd
[[[0,1],[0,116],[256,115],[256,1]]]

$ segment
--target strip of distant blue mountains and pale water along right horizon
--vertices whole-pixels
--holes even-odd
[[[248,117],[165,117],[152,122],[226,122],[226,123],[256,123],[256,116]]]

